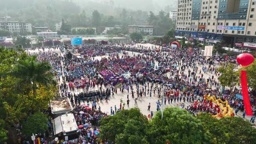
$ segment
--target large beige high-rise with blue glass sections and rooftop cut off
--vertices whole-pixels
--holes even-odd
[[[176,37],[256,49],[256,0],[179,0]]]

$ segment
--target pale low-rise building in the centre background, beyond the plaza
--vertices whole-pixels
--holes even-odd
[[[153,35],[153,26],[142,26],[142,25],[128,25],[128,33],[149,33],[150,36]]]

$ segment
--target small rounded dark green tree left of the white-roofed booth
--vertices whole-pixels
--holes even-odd
[[[48,129],[48,119],[45,114],[34,113],[27,117],[23,123],[22,132],[26,137],[34,134],[43,134]]]

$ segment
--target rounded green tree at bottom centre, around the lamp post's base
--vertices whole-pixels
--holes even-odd
[[[147,135],[150,144],[209,144],[203,126],[188,111],[165,108],[163,119],[158,111],[150,122]]]

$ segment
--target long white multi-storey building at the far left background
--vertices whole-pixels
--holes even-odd
[[[32,26],[29,22],[8,21],[0,22],[0,30],[7,30],[11,33],[32,33]]]

